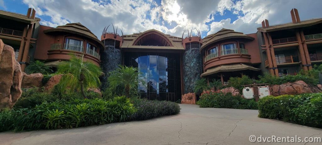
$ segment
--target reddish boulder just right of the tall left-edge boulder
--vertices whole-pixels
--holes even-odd
[[[24,75],[22,79],[21,88],[32,88],[35,87],[42,87],[43,86],[43,74],[41,73],[33,73],[29,75]]]

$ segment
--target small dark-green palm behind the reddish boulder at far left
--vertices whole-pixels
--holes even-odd
[[[35,62],[31,62],[27,68],[26,73],[42,73],[42,74],[49,74],[52,73],[52,69],[49,68],[48,65],[45,65],[44,62],[36,60]]]

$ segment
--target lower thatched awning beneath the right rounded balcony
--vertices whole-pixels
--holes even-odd
[[[242,71],[242,70],[260,71],[260,69],[254,68],[253,66],[248,64],[243,64],[243,63],[242,65],[240,65],[239,63],[227,64],[227,65],[221,65],[221,66],[207,69],[207,71],[202,73],[200,77],[215,74],[215,73],[220,73],[220,72],[235,72],[235,71]]]

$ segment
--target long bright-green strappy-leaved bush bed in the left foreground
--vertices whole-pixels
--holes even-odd
[[[96,98],[44,102],[34,108],[1,111],[0,131],[73,128],[129,121],[135,111],[125,96],[114,97],[111,101]]]

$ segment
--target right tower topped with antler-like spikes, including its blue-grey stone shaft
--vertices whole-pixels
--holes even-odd
[[[194,92],[194,84],[200,79],[202,73],[202,56],[199,52],[202,39],[200,31],[196,30],[196,34],[192,34],[192,29],[188,36],[184,37],[185,32],[182,34],[182,45],[185,48],[183,54],[183,79],[184,79],[184,93]]]

